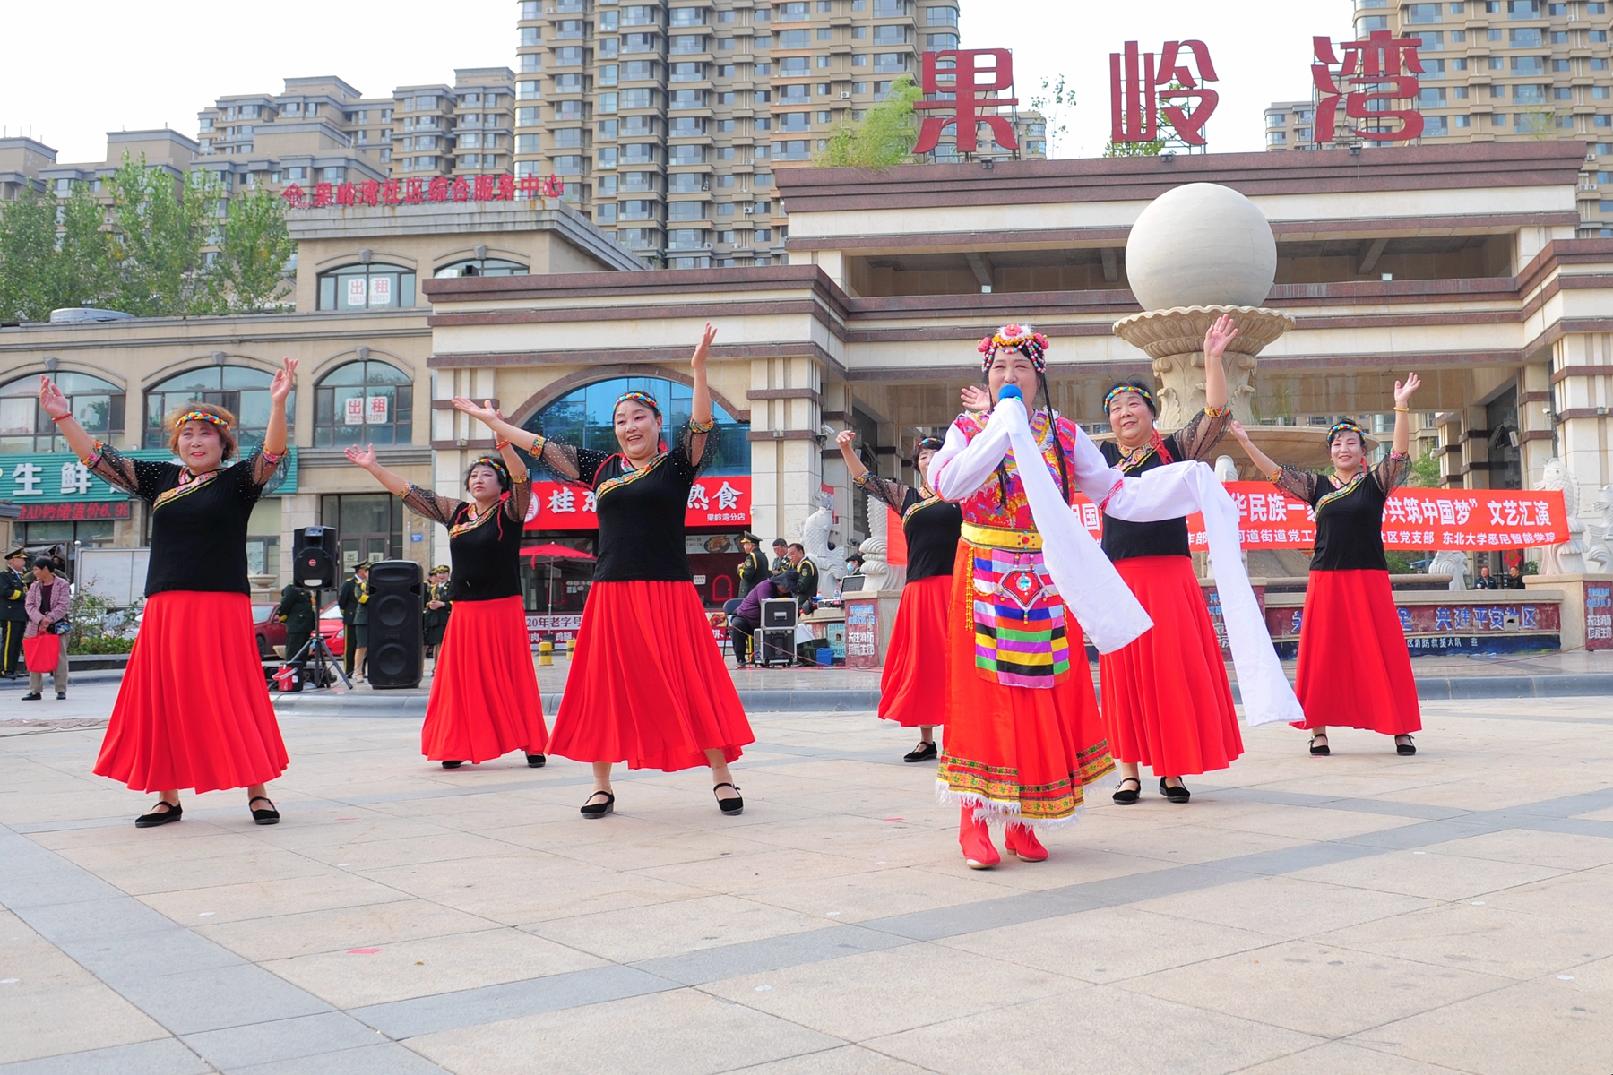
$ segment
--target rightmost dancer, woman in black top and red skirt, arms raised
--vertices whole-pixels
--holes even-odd
[[[1232,435],[1277,487],[1316,511],[1305,609],[1300,614],[1300,667],[1295,693],[1311,732],[1310,753],[1327,754],[1329,725],[1366,728],[1395,737],[1397,754],[1415,754],[1413,732],[1423,730],[1416,680],[1405,630],[1389,588],[1384,559],[1384,506],[1410,466],[1408,400],[1423,382],[1408,374],[1395,382],[1395,438],[1389,456],[1366,466],[1366,434],[1345,419],[1327,430],[1332,477],[1279,466],[1257,448],[1244,427]],[[1348,669],[1340,675],[1339,662]]]

